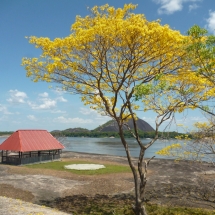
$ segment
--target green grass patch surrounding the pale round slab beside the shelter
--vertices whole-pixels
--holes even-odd
[[[51,169],[51,170],[58,170],[58,171],[66,171],[80,175],[100,175],[100,174],[110,174],[110,173],[123,173],[123,172],[131,172],[130,167],[123,166],[123,165],[110,165],[104,164],[106,168],[98,169],[98,170],[72,170],[72,169],[65,169],[65,165],[70,164],[91,164],[92,162],[89,161],[55,161],[55,162],[48,162],[48,163],[41,163],[41,164],[32,164],[27,165],[26,167],[31,169]],[[98,164],[98,163],[94,163]]]

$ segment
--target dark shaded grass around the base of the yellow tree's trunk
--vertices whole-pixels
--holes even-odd
[[[58,198],[51,206],[60,211],[74,215],[134,215],[131,205],[134,203],[132,196],[96,195],[87,197],[83,195]],[[47,205],[50,206],[50,205]],[[147,204],[148,215],[214,215],[214,210],[186,207],[167,207]]]

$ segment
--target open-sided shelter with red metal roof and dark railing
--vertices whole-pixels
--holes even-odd
[[[56,160],[63,148],[46,130],[17,130],[0,145],[2,163],[12,165]]]

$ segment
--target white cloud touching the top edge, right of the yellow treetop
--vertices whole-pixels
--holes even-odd
[[[174,12],[181,11],[183,4],[186,2],[199,2],[201,0],[153,0],[155,3],[161,5],[158,9],[159,14],[173,14]],[[191,6],[194,9],[194,4]]]

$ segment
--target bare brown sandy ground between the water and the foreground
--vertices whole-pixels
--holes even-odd
[[[87,160],[98,164],[127,165],[126,158],[107,155],[64,152],[62,159],[72,161]],[[172,160],[154,159],[150,162],[148,169],[146,191],[148,201],[157,204],[206,208],[215,206],[213,202],[215,167],[205,163],[199,164],[185,161],[176,163]],[[133,194],[133,191],[134,184],[131,173],[83,176],[66,171],[44,171],[30,169],[25,166],[0,165],[0,196],[22,199],[40,205],[66,196],[114,196]],[[208,199],[205,199],[205,196]],[[0,202],[2,202],[0,205],[2,211],[7,211],[11,208],[8,207],[9,203],[15,204],[14,208],[18,204],[6,198],[1,198]],[[28,205],[28,203],[26,204]],[[22,203],[21,205],[25,204]],[[25,206],[22,207],[25,208]],[[0,214],[4,214],[2,211],[0,211]],[[26,210],[26,213],[23,211],[14,214],[30,214],[28,210]]]

